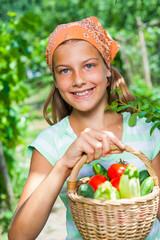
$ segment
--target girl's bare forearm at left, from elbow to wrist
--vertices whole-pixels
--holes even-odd
[[[67,177],[58,162],[15,213],[9,240],[33,240],[39,235]]]

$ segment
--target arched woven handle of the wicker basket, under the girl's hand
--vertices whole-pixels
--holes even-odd
[[[126,148],[125,148],[124,151],[132,153],[142,160],[142,162],[145,164],[150,176],[153,177],[155,186],[158,186],[158,177],[157,177],[156,172],[154,171],[154,169],[152,167],[151,161],[139,150],[137,150],[133,147],[130,147],[129,145],[125,145],[125,147]],[[122,149],[120,149],[119,147],[117,147],[114,144],[111,144],[110,152],[112,152],[112,154],[114,154],[114,151],[117,151],[117,150],[123,152]],[[87,161],[87,155],[84,154],[84,155],[82,155],[81,159],[73,167],[73,169],[71,171],[71,175],[70,175],[69,180],[67,182],[67,190],[72,191],[72,190],[76,189],[78,173],[79,173],[80,169],[82,168],[82,166],[86,163],[86,161]]]

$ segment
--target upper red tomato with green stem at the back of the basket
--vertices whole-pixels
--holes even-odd
[[[110,179],[120,177],[124,173],[125,169],[127,167],[127,164],[121,164],[121,163],[113,163],[109,168],[108,168],[108,177]]]

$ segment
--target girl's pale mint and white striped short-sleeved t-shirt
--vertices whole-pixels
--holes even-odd
[[[137,119],[135,127],[129,127],[128,119],[130,113],[123,113],[123,143],[130,145],[142,153],[144,153],[150,160],[153,160],[160,151],[160,131],[155,129],[150,136],[151,123],[145,123],[145,119]],[[33,148],[36,148],[53,166],[58,159],[60,159],[69,146],[77,138],[73,129],[70,126],[68,116],[62,119],[57,124],[48,127],[42,131],[34,142],[29,146],[29,154],[32,156]],[[137,166],[138,170],[145,169],[144,163],[135,155],[123,152],[122,154],[113,154],[108,158],[101,158],[97,162],[100,162],[105,168],[109,168],[111,164],[123,160]],[[78,178],[85,176],[92,176],[92,165],[85,164],[79,171]],[[67,181],[61,189],[59,194],[66,209],[66,228],[67,228],[67,240],[80,240],[82,239],[74,221],[69,206],[67,196]],[[154,222],[147,240],[160,240],[160,223],[158,219]]]

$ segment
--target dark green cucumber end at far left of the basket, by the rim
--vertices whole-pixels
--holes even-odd
[[[95,191],[93,187],[87,183],[83,183],[78,188],[78,195],[86,198],[94,198]]]

